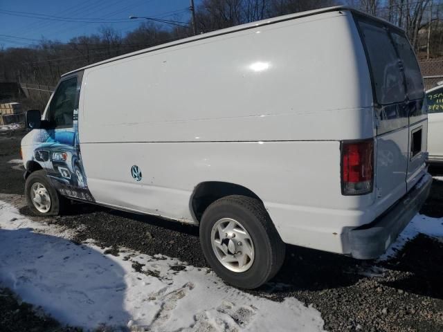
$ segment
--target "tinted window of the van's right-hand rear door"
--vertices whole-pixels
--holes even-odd
[[[394,39],[395,47],[403,62],[409,100],[423,98],[424,87],[422,73],[420,73],[420,68],[413,48],[410,46],[408,39],[406,39],[405,36],[399,35],[398,33],[392,33],[392,39]]]

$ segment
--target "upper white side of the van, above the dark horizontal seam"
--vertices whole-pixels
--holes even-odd
[[[81,137],[84,143],[370,138],[371,91],[352,15],[328,12],[87,69]]]

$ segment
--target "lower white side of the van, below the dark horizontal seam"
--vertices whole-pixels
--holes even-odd
[[[334,141],[82,147],[84,160],[100,160],[87,168],[98,203],[195,223],[190,200],[197,184],[236,183],[260,196],[284,241],[335,252],[342,251],[343,223],[357,226],[374,218],[357,209],[370,205],[372,195],[349,197],[348,204],[356,210],[338,209],[341,197],[330,195],[341,192],[339,151],[340,144]],[[139,183],[131,176],[134,163],[143,174]]]

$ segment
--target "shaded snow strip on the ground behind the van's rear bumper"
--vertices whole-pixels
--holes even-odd
[[[397,255],[397,252],[399,252],[408,241],[414,239],[420,233],[443,241],[443,218],[432,218],[424,214],[416,214],[403,232],[399,234],[397,241],[392,243],[384,255],[379,257],[377,261],[386,261],[390,259],[390,257]]]

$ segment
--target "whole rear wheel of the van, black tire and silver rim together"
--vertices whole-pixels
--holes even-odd
[[[239,195],[209,205],[201,218],[200,243],[215,273],[246,289],[261,286],[280,270],[286,248],[263,204]]]

